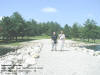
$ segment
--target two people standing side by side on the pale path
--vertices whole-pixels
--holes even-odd
[[[57,50],[57,43],[58,43],[58,39],[59,39],[59,50],[63,50],[64,48],[64,43],[65,43],[65,34],[63,33],[63,31],[60,31],[60,34],[57,36],[56,32],[53,32],[52,36],[51,36],[51,40],[52,40],[52,51],[53,50]]]

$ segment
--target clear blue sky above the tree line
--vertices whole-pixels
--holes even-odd
[[[87,18],[100,25],[100,0],[0,0],[0,18],[19,12],[26,20],[56,21],[61,26]]]

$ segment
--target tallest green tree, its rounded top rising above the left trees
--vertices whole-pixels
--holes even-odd
[[[25,30],[25,21],[23,20],[22,16],[18,12],[14,12],[12,16],[10,16],[12,21],[12,36],[24,36]]]

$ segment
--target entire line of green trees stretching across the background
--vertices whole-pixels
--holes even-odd
[[[34,19],[26,21],[18,12],[11,16],[5,16],[0,20],[0,37],[2,40],[18,40],[25,36],[51,35],[52,32],[59,33],[63,30],[67,38],[100,39],[100,26],[92,19],[87,19],[83,25],[74,23],[72,26],[66,24],[61,27],[57,22],[38,23]]]

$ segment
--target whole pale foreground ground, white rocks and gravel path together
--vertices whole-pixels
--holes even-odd
[[[57,51],[51,51],[50,39],[25,42],[16,52],[0,58],[0,64],[31,67],[32,71],[17,71],[17,75],[100,75],[100,52],[79,47],[84,45],[66,40],[63,51],[60,51],[58,41]],[[15,66],[11,71],[16,71],[13,68]]]

